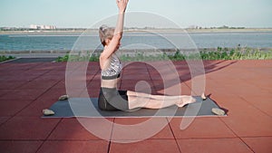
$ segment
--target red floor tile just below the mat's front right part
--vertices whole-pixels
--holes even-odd
[[[226,117],[228,118],[228,117]],[[187,129],[180,129],[181,120],[177,118],[170,120],[170,127],[176,139],[194,138],[234,138],[236,137],[230,129],[217,117],[195,118]]]

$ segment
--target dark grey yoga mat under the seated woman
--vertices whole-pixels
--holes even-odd
[[[58,100],[50,110],[54,115],[43,116],[43,118],[144,118],[144,117],[191,117],[191,116],[217,116],[211,112],[212,108],[219,106],[211,99],[201,100],[195,97],[197,102],[186,105],[182,108],[171,106],[160,110],[140,109],[132,111],[105,111],[98,109],[97,98],[70,98]]]

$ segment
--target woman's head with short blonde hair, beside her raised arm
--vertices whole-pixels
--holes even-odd
[[[102,25],[99,28],[99,37],[103,46],[106,45],[106,39],[112,40],[114,34],[114,28]]]

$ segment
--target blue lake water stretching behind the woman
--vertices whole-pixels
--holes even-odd
[[[272,32],[242,32],[242,33],[165,33],[162,36],[152,33],[124,33],[121,46],[130,49],[159,48],[170,49],[175,46],[166,37],[175,40],[191,38],[198,48],[242,47],[272,48]],[[85,40],[84,40],[85,39]],[[179,42],[179,41],[178,41]],[[81,44],[82,43],[82,44]],[[50,34],[0,34],[1,51],[69,51],[82,45],[81,49],[93,50],[102,48],[97,34],[81,36],[80,33],[50,33]],[[183,46],[184,45],[184,46]],[[180,48],[181,48],[180,47]]]

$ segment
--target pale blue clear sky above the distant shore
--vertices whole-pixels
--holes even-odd
[[[272,27],[272,0],[130,0],[127,13],[135,12],[156,14],[180,27]],[[117,13],[115,0],[0,0],[0,27],[90,28]],[[131,26],[152,21],[152,15],[136,16],[126,16],[137,21]],[[164,26],[160,23],[152,26]]]

